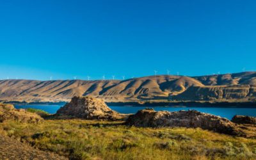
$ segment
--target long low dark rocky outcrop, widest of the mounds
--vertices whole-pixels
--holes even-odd
[[[129,116],[127,124],[137,127],[200,127],[215,132],[244,136],[244,132],[230,120],[195,110],[169,112],[143,109]]]

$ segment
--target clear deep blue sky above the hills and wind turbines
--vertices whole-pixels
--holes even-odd
[[[256,1],[0,1],[0,78],[256,69]]]

